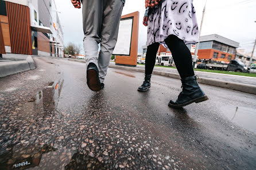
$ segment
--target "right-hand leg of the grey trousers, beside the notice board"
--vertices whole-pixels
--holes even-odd
[[[103,21],[98,58],[100,82],[103,82],[106,77],[110,58],[117,43],[122,10],[121,0],[103,0]]]

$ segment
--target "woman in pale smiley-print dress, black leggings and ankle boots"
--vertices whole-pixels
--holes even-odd
[[[150,88],[150,79],[156,62],[160,44],[170,49],[182,82],[182,92],[169,106],[181,108],[193,102],[208,100],[197,83],[192,66],[191,52],[186,44],[199,41],[199,29],[196,11],[192,0],[146,0],[146,13],[143,25],[148,26],[145,81],[139,86],[139,92]]]

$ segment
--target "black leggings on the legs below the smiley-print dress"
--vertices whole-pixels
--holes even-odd
[[[170,52],[172,52],[172,57],[180,77],[186,78],[195,76],[192,66],[192,56],[184,41],[175,35],[169,35],[168,38],[165,39],[165,44],[170,49]],[[153,72],[159,45],[159,43],[154,43],[148,46],[145,61],[145,74],[147,75]]]

